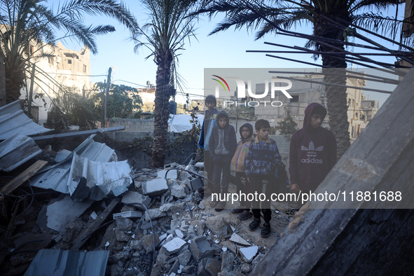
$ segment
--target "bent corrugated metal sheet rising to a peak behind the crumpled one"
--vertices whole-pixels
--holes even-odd
[[[66,156],[62,162],[47,167],[42,174],[32,177],[32,186],[44,189],[51,188],[60,193],[69,193],[67,183],[74,153],[78,153],[79,156],[89,156],[92,161],[108,162],[116,160],[115,150],[105,144],[93,141],[93,137],[95,137],[95,134],[90,135],[88,139]]]

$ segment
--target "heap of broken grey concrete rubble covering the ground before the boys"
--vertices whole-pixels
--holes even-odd
[[[15,228],[17,234],[2,242],[9,247],[9,270],[1,272],[22,275],[35,251],[48,248],[109,251],[106,275],[249,275],[293,213],[277,206],[273,233],[263,239],[259,230],[248,230],[250,220],[209,207],[201,175],[198,166],[172,163],[135,172],[133,184],[118,196],[74,201],[60,193],[39,202],[39,214],[36,208],[27,212],[27,221],[20,221],[24,230]]]

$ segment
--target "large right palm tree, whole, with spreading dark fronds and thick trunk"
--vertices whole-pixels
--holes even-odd
[[[208,14],[210,17],[216,15],[216,13],[226,14],[226,18],[216,26],[211,34],[224,31],[230,27],[236,29],[247,27],[247,29],[258,29],[256,39],[280,30],[289,32],[289,29],[310,22],[313,26],[313,36],[334,39],[336,42],[330,41],[326,44],[310,40],[305,46],[326,53],[345,49],[344,43],[340,42],[345,41],[343,29],[329,24],[329,20],[339,18],[345,20],[345,22],[371,27],[375,32],[382,31],[386,33],[389,30],[394,30],[395,25],[401,25],[401,22],[394,20],[394,18],[382,16],[380,13],[363,12],[370,9],[380,11],[381,8],[399,4],[401,4],[401,1],[398,0],[219,0],[211,1],[211,4],[205,8],[200,8],[195,14]],[[339,57],[338,55],[321,54],[323,72],[335,69],[341,75],[325,74],[325,83],[345,85],[347,64],[344,60],[345,52],[343,53]],[[350,146],[346,88],[325,85],[325,91],[329,125],[336,136],[338,143],[337,157],[340,158]]]

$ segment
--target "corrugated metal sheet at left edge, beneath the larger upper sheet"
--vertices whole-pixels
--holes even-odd
[[[0,143],[0,170],[10,172],[41,152],[32,138],[16,133]]]

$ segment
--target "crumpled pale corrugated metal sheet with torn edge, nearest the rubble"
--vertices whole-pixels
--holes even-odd
[[[74,154],[67,186],[72,200],[83,200],[88,196],[91,200],[102,200],[109,193],[118,196],[132,184],[133,172],[127,160],[120,162],[94,162],[88,158]],[[85,185],[78,185],[81,178],[86,180]],[[76,191],[81,189],[83,191]],[[80,197],[74,195],[81,194]]]

